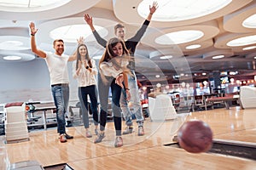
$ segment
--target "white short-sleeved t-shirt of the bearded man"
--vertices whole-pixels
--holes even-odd
[[[46,64],[49,70],[50,84],[69,83],[67,72],[67,61],[69,56],[66,54],[57,55],[46,52]]]

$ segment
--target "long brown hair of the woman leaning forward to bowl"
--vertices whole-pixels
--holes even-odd
[[[127,59],[128,61],[131,60],[129,50],[125,47],[125,42],[122,39],[118,38],[118,37],[113,37],[113,38],[108,40],[105,51],[104,51],[104,54],[102,55],[102,59],[100,59],[100,61],[99,61],[99,65],[101,65],[102,62],[104,62],[104,61],[108,62],[108,61],[111,60],[115,67],[120,68],[120,69],[123,70],[123,72],[126,72],[126,73],[131,75],[131,71],[126,66],[124,67],[124,66],[120,65],[118,62],[115,62],[115,60],[113,59],[115,57],[118,57],[116,54],[113,53],[113,47],[115,47],[116,44],[119,43],[119,42],[122,44],[122,48],[123,48],[123,55],[122,55],[121,58],[122,59]],[[106,82],[107,79],[104,76],[104,74],[102,74],[101,66],[99,66],[99,68],[100,68],[100,74],[101,74],[101,77],[102,77],[102,81]]]

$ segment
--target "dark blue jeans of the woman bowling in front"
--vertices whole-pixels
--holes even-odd
[[[98,77],[98,90],[99,90],[99,97],[101,103],[101,112],[100,112],[100,130],[104,131],[107,116],[108,116],[108,93],[109,87],[111,88],[112,93],[112,111],[113,111],[113,123],[115,127],[116,136],[121,136],[122,130],[122,114],[120,109],[120,96],[122,88],[115,83],[115,79],[113,77],[106,77],[107,82],[102,82],[102,77],[99,74]]]

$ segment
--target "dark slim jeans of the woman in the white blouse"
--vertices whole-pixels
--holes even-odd
[[[97,126],[98,125],[98,110],[97,110],[97,97],[96,97],[96,85],[91,85],[87,87],[79,87],[79,100],[81,104],[81,111],[82,111],[82,116],[83,116],[83,122],[84,122],[84,127],[88,128],[89,127],[89,116],[88,116],[88,98],[87,96],[89,95],[90,97],[90,108],[92,111],[92,117],[94,124]]]

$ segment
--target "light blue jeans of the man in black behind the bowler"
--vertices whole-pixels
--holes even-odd
[[[131,102],[134,114],[137,119],[137,125],[139,127],[143,126],[144,117],[143,117],[143,109],[141,105],[141,100],[139,97],[138,87],[137,87],[137,77],[134,73],[134,71],[131,71],[133,73],[133,76],[129,75],[128,82],[129,82],[129,88],[130,88],[130,94],[131,94]],[[131,118],[131,111],[128,107],[128,103],[126,100],[126,94],[125,89],[122,89],[121,99],[120,99],[120,105],[121,110],[125,116],[125,123],[127,126],[132,125],[132,118]]]

